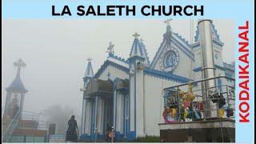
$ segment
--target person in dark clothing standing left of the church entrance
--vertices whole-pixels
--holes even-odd
[[[66,131],[66,141],[77,142],[78,141],[78,134],[77,134],[78,124],[77,124],[77,121],[74,119],[74,115],[71,116],[68,122],[68,125],[69,127],[67,128],[67,131]]]

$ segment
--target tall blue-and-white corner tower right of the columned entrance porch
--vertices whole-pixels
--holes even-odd
[[[144,93],[143,93],[143,70],[149,61],[146,56],[145,46],[139,42],[139,34],[135,33],[134,43],[130,51],[130,138],[145,136],[144,132]]]

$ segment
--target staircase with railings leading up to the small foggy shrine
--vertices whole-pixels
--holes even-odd
[[[9,142],[14,129],[18,126],[19,118],[20,110],[18,110],[14,118],[10,118],[9,115],[2,118],[2,142]]]

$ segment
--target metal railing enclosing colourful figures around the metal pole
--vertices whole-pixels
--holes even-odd
[[[206,87],[207,81],[225,85]],[[164,89],[166,123],[228,118],[234,120],[234,78],[219,76]]]

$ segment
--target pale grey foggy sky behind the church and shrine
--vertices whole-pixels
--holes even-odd
[[[197,21],[194,20],[194,26]],[[224,42],[223,59],[234,60],[234,22],[215,20]],[[174,20],[172,29],[190,42],[190,21]],[[163,20],[6,20],[2,19],[2,107],[6,87],[14,80],[13,62],[22,58],[22,82],[29,92],[25,110],[42,111],[54,104],[82,108],[82,78],[86,59],[93,58],[94,74],[106,60],[106,48],[114,42],[114,52],[128,58],[138,32],[144,40],[150,61],[166,31]],[[195,31],[195,28],[194,28]]]

